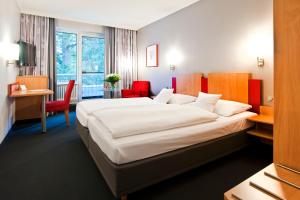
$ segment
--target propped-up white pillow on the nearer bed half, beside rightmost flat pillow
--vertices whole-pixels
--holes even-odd
[[[203,92],[199,92],[199,96],[194,105],[209,112],[214,112],[216,103],[219,101],[221,96],[221,94],[206,94]]]

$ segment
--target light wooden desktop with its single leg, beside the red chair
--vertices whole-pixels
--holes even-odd
[[[51,94],[53,94],[52,90],[39,89],[39,90],[27,90],[27,91],[13,91],[9,95],[9,97],[20,98],[20,97],[40,96],[42,98],[42,116],[41,116],[42,132],[45,133],[47,131],[47,128],[46,128],[46,97]]]

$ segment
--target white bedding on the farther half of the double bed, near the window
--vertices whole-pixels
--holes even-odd
[[[80,124],[87,127],[89,116],[94,111],[122,106],[148,105],[156,103],[157,102],[148,97],[86,100],[77,104],[76,116]]]

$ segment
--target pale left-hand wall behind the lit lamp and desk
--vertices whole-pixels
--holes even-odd
[[[20,11],[15,0],[0,0],[0,42],[17,42]],[[14,102],[7,97],[7,86],[16,80],[17,68],[0,58],[0,143],[14,123]]]

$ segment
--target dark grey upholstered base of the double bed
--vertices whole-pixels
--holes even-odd
[[[115,164],[91,139],[89,130],[77,120],[77,130],[98,169],[118,198],[224,157],[248,145],[246,130],[150,158]]]

